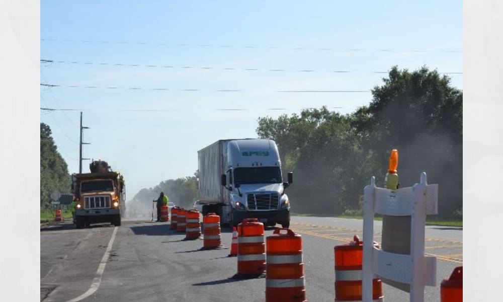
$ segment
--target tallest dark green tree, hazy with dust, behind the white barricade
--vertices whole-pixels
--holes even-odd
[[[425,171],[439,184],[439,214],[448,217],[463,204],[463,93],[427,67],[410,72],[394,66],[383,82],[352,122],[382,163],[373,171],[376,180],[383,184],[389,152],[398,149],[401,186],[418,182]]]

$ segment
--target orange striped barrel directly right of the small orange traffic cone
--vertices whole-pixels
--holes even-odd
[[[257,218],[244,219],[237,228],[237,274],[256,275],[265,271],[264,224]]]

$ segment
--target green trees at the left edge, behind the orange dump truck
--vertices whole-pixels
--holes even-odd
[[[51,193],[69,193],[68,166],[57,151],[51,128],[40,123],[40,206],[48,207]]]

